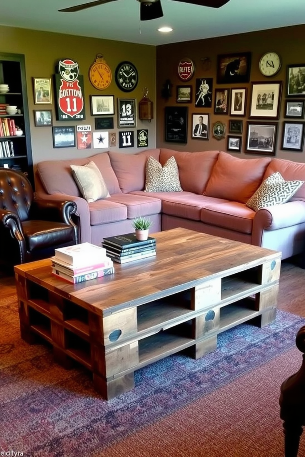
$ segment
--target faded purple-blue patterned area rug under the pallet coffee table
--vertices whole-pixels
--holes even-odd
[[[176,354],[138,370],[135,388],[107,402],[84,368],[65,370],[54,363],[50,347],[21,340],[16,298],[1,300],[0,451],[117,455],[111,453],[116,443],[198,399],[217,396],[217,389],[291,350],[302,325],[305,319],[283,311],[262,329],[241,324],[220,334],[217,350],[197,361]]]

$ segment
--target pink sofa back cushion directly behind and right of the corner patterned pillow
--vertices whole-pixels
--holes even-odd
[[[174,156],[178,165],[179,179],[184,191],[202,194],[207,186],[219,151],[180,152],[160,149],[160,163]]]

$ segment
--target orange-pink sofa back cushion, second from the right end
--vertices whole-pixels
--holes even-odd
[[[240,159],[219,152],[204,195],[246,203],[262,182],[270,157]]]

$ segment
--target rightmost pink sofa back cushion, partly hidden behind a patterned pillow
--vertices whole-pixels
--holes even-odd
[[[272,159],[265,171],[264,180],[276,171],[279,171],[285,181],[305,181],[305,164],[286,159]],[[291,200],[302,200],[305,202],[305,186],[300,186]]]

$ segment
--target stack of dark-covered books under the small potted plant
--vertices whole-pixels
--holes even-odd
[[[156,255],[155,238],[149,236],[145,241],[138,241],[135,233],[104,238],[102,246],[106,249],[107,256],[118,263],[127,263]]]

